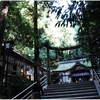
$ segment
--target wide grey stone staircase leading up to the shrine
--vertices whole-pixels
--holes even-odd
[[[42,99],[71,98],[98,99],[99,95],[93,81],[54,84],[44,90]]]

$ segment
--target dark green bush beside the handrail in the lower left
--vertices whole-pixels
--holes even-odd
[[[25,77],[10,76],[8,87],[0,87],[0,98],[11,99],[31,84],[32,82]]]

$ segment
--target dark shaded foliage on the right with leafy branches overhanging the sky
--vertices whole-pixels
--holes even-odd
[[[79,26],[76,40],[82,45],[84,52],[91,59],[93,66],[100,66],[100,3],[98,1],[71,1],[66,9],[64,6],[50,6],[56,13],[56,26],[70,23],[72,27]]]

